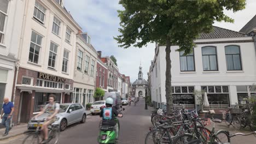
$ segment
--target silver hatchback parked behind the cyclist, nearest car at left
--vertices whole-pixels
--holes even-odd
[[[44,119],[48,117],[48,111],[46,111],[43,115],[39,116],[37,119]],[[68,125],[73,123],[85,123],[86,121],[86,112],[84,106],[79,103],[64,103],[60,104],[60,111],[56,115],[57,121],[53,124],[59,124],[60,130],[63,131],[67,128]],[[38,121],[38,120],[37,120]],[[36,120],[31,119],[27,124],[27,128],[29,130],[36,129],[38,126]],[[43,121],[40,122],[40,127],[43,125]]]

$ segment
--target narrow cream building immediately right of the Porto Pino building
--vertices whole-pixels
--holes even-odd
[[[90,44],[87,33],[77,34],[77,47],[74,69],[74,92],[73,103],[86,106],[94,103],[94,92],[96,85],[97,51]]]

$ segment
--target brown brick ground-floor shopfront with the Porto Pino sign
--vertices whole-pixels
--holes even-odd
[[[71,89],[73,80],[20,67],[14,89],[13,122],[28,122],[44,107],[51,93],[56,95],[57,103],[69,103]]]

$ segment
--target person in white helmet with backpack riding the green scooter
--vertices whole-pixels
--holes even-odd
[[[117,111],[117,107],[113,106],[114,100],[112,98],[106,99],[106,107],[101,110],[100,117],[102,117],[102,125],[104,122],[108,121],[108,125],[114,127],[115,133],[117,135],[116,139],[118,139],[118,123],[115,122],[115,116],[123,117],[123,115],[119,114]]]

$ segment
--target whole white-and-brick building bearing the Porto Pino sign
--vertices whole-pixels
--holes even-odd
[[[14,77],[14,123],[25,123],[38,113],[50,93],[56,95],[57,103],[72,100],[76,34],[82,29],[63,1],[22,2],[26,16],[20,16],[24,21],[19,23],[22,38]]]

